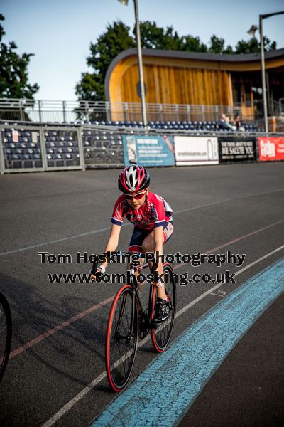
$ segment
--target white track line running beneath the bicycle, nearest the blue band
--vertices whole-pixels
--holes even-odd
[[[244,273],[244,271],[248,270],[249,268],[253,267],[253,265],[256,265],[258,263],[260,263],[262,260],[268,258],[268,256],[273,255],[274,253],[277,253],[278,251],[281,251],[282,249],[284,249],[284,245],[283,246],[279,246],[279,248],[274,249],[274,251],[271,251],[269,253],[266,253],[266,255],[263,255],[261,258],[258,258],[257,260],[253,261],[253,263],[250,263],[249,265],[246,265],[246,267],[241,268],[241,270],[237,271],[235,273],[235,275],[240,275],[241,273]],[[210,288],[209,290],[207,290],[207,292],[204,292],[202,295],[200,295],[199,297],[195,298],[195,300],[193,300],[192,302],[190,302],[189,304],[185,305],[185,307],[183,307],[176,315],[175,318],[179,317],[180,315],[182,315],[182,313],[184,313],[185,311],[187,311],[190,307],[192,307],[193,305],[197,304],[197,302],[200,302],[200,300],[203,300],[204,297],[207,297],[207,295],[211,294],[212,292],[214,292],[214,290],[218,289],[220,286],[224,285],[224,283],[218,283],[218,285],[213,286],[213,288]],[[145,344],[149,339],[151,338],[151,335],[149,334],[148,337],[144,338],[141,342],[138,343],[138,347],[141,347],[143,344]],[[53,426],[53,424],[58,421],[62,416],[65,415],[65,413],[67,411],[69,411],[70,408],[72,408],[72,406],[74,406],[75,404],[77,404],[78,401],[80,401],[80,399],[82,399],[87,393],[88,391],[94,389],[94,386],[97,386],[97,384],[99,384],[100,381],[102,381],[104,378],[106,378],[107,374],[106,372],[102,372],[102,374],[100,374],[99,376],[97,376],[96,379],[94,379],[92,382],[90,382],[87,387],[85,387],[84,389],[82,389],[82,391],[80,391],[80,393],[78,393],[75,397],[73,397],[73,399],[71,399],[65,406],[63,406],[60,411],[58,411],[57,413],[55,413],[48,421],[46,421],[42,427],[50,427]]]

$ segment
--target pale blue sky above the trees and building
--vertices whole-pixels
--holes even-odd
[[[249,40],[259,14],[284,11],[283,0],[139,0],[141,21],[173,26],[180,36],[200,37],[208,43],[215,34],[226,45]],[[133,1],[117,0],[1,0],[0,13],[6,35],[18,53],[34,53],[28,67],[30,83],[38,83],[37,100],[76,100],[75,85],[87,67],[90,43],[121,20],[133,29]],[[263,33],[277,48],[284,48],[284,14],[263,21]],[[256,33],[259,37],[259,33]]]

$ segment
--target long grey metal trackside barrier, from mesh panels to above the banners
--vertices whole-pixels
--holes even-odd
[[[210,127],[210,126],[209,126]],[[245,137],[282,136],[262,132],[221,132],[212,130],[152,129],[94,125],[30,125],[0,123],[1,174],[63,169],[124,167],[122,137],[188,136],[188,137]]]

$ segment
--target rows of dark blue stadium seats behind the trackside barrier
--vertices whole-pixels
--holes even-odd
[[[28,169],[43,168],[43,159],[40,147],[39,128],[26,130],[24,127],[18,129],[17,142],[13,141],[13,127],[25,126],[25,122],[11,124],[0,122],[2,144],[4,149],[4,161],[6,169]],[[79,122],[82,125],[82,122]],[[33,126],[31,125],[31,126]],[[97,126],[93,126],[97,125]],[[56,126],[56,127],[55,127]],[[98,127],[99,126],[99,127]],[[104,129],[104,126],[105,129]],[[109,128],[108,126],[111,126]],[[53,129],[55,127],[55,129]],[[118,129],[115,130],[114,127]],[[85,164],[124,164],[122,135],[126,132],[133,132],[134,128],[143,128],[142,122],[89,122],[85,121],[81,127],[82,145],[84,150]],[[254,125],[244,125],[246,132],[257,132]],[[148,129],[168,130],[171,132],[182,132],[200,135],[199,132],[226,132],[217,130],[217,122],[214,121],[155,121],[148,122]],[[68,125],[54,123],[44,128],[44,141],[46,162],[48,168],[53,167],[77,167],[80,165],[80,152],[78,144],[77,129],[68,129]]]

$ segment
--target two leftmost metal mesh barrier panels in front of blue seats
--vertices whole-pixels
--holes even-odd
[[[80,126],[0,125],[1,174],[85,169]]]

